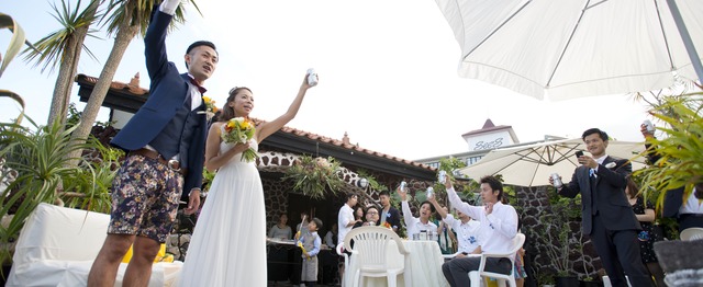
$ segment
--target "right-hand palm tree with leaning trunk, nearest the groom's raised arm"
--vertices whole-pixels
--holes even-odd
[[[90,99],[83,108],[80,124],[72,134],[74,140],[85,141],[87,139],[98,117],[100,106],[102,106],[102,102],[108,94],[118,66],[122,61],[124,51],[137,33],[142,36],[146,33],[152,10],[154,5],[159,2],[160,1],[156,0],[111,0],[108,10],[113,12],[105,13],[104,21],[108,25],[108,33],[115,35],[114,45],[100,72],[98,82],[90,93]],[[192,3],[200,13],[200,9],[194,0],[189,0],[189,2]],[[182,4],[176,10],[174,20],[177,23],[185,22]],[[174,25],[174,23],[171,23],[171,25]],[[76,158],[76,154],[69,154],[69,158]]]

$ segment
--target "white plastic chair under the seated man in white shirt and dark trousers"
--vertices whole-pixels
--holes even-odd
[[[483,253],[481,254],[481,264],[479,265],[478,271],[469,272],[469,278],[471,278],[471,287],[478,287],[481,283],[481,277],[491,277],[498,280],[499,286],[505,286],[505,282],[511,287],[515,287],[515,253],[523,246],[525,243],[525,234],[517,233],[515,238],[513,238],[511,248],[505,253]],[[489,257],[504,257],[510,260],[510,274],[501,274],[494,272],[486,271],[486,261]]]

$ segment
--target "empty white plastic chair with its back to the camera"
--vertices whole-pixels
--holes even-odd
[[[395,287],[400,274],[403,274],[405,286],[412,286],[410,273],[405,272],[405,267],[410,266],[410,252],[405,250],[395,232],[383,227],[359,227],[347,233],[344,245],[350,246],[352,241],[354,241],[354,246],[347,250],[352,252],[358,265],[354,274],[355,287],[362,283],[364,277],[387,277],[388,286]],[[387,256],[388,248],[393,241],[398,252],[405,257],[400,267],[397,262],[391,264]],[[347,272],[352,271],[345,269],[345,273]]]

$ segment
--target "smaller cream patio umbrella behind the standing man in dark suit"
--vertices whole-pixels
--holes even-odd
[[[501,174],[503,183],[518,186],[549,185],[549,175],[556,172],[566,183],[579,165],[574,154],[578,150],[585,150],[580,138],[495,149],[459,172],[475,180]],[[633,170],[638,170],[645,167],[645,158],[637,157],[644,150],[643,142],[610,140],[606,153],[621,159],[636,158]]]

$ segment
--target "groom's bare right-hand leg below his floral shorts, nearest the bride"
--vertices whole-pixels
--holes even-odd
[[[153,239],[137,237],[134,240],[134,255],[124,273],[122,286],[147,286],[152,277],[152,265],[160,244]]]

